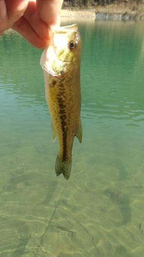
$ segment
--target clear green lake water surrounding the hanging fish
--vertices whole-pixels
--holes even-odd
[[[71,176],[56,177],[42,50],[0,38],[0,255],[142,257],[144,24],[77,22],[81,121]]]

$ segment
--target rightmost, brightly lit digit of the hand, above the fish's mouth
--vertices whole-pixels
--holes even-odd
[[[60,25],[60,10],[63,0],[36,0],[40,19],[46,24]]]

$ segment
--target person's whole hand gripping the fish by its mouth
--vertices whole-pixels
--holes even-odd
[[[63,0],[0,0],[0,34],[12,28],[37,48],[50,40],[48,26],[60,23]]]

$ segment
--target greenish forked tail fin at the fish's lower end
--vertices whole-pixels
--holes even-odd
[[[66,180],[68,180],[71,174],[71,165],[72,165],[72,160],[70,162],[65,162],[57,156],[56,162],[55,162],[56,176],[59,176],[61,173],[63,173]]]

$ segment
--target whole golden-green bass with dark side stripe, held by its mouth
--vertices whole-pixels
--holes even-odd
[[[50,26],[52,40],[48,42],[40,58],[44,70],[45,94],[48,103],[52,141],[56,136],[59,152],[55,173],[68,180],[72,166],[74,137],[81,143],[83,130],[80,119],[80,59],[81,37],[78,25]]]

